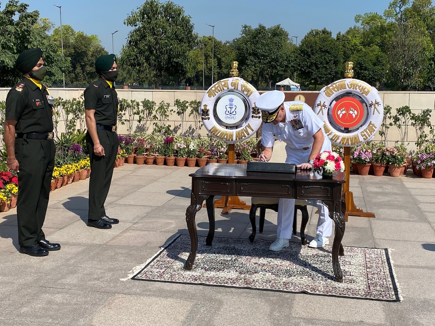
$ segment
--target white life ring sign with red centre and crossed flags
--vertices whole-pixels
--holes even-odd
[[[384,117],[378,90],[358,79],[337,80],[321,89],[314,112],[326,135],[339,146],[358,146],[371,140]]]

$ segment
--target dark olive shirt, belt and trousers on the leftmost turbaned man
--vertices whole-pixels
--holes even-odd
[[[42,225],[47,213],[55,153],[49,100],[51,102],[47,88],[42,85],[40,89],[28,78],[15,85],[6,97],[5,119],[17,121],[18,244],[23,247],[45,240]]]

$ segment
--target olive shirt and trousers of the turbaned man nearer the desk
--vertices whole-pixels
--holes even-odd
[[[98,139],[104,148],[104,156],[95,155],[94,142],[89,132],[86,133],[91,170],[88,220],[100,220],[101,216],[106,215],[104,202],[109,193],[119,146],[118,135],[115,131],[118,104],[115,88],[110,88],[103,78],[91,83],[84,90],[84,106],[86,109],[95,110]]]

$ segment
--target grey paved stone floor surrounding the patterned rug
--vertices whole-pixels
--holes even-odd
[[[435,325],[435,179],[412,171],[351,176],[355,203],[376,219],[350,217],[343,239],[345,246],[393,249],[402,303],[120,280],[176,233],[188,234],[195,170],[115,169],[106,207],[120,223],[111,230],[85,224],[88,180],[55,190],[43,230],[62,249],[46,257],[18,253],[16,210],[0,213],[0,325]],[[311,240],[317,216],[309,212]],[[216,236],[251,233],[248,211],[216,210],[216,219]],[[206,233],[204,209],[197,227]],[[257,236],[275,239],[276,213],[267,213]]]

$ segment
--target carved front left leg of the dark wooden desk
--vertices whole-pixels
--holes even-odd
[[[186,263],[184,264],[184,269],[191,270],[193,267],[193,262],[196,258],[196,252],[198,250],[198,233],[196,230],[195,216],[198,210],[201,210],[202,203],[208,197],[208,195],[197,195],[191,193],[191,204],[186,210],[186,223],[187,230],[189,230],[189,235],[191,237],[191,253],[187,257]]]

